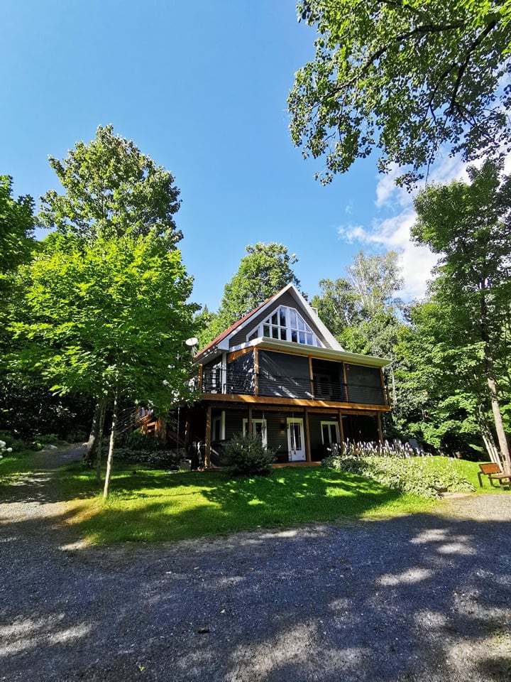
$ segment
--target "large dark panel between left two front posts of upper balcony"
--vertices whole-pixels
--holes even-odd
[[[268,350],[259,352],[259,395],[312,398],[309,358]]]

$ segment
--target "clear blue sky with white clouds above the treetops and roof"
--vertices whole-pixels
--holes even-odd
[[[286,99],[313,41],[295,0],[4,0],[0,173],[16,195],[58,190],[48,155],[111,123],[175,175],[194,301],[216,309],[255,242],[297,254],[310,296],[359,249],[395,248],[420,296],[434,259],[408,241],[410,195],[375,158],[323,187],[292,146]],[[446,160],[437,177],[459,173]]]

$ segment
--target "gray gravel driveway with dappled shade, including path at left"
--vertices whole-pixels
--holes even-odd
[[[113,548],[52,469],[0,504],[0,680],[509,682],[511,494],[435,514]]]

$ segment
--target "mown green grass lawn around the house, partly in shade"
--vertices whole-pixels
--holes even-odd
[[[34,453],[0,460],[0,486],[33,470]],[[428,458],[432,467],[454,466],[476,492],[498,492],[477,481],[478,465]],[[104,501],[94,472],[80,462],[55,479],[67,522],[98,544],[181,540],[293,524],[367,519],[428,511],[435,501],[400,494],[378,483],[326,467],[278,469],[268,478],[229,479],[221,472],[165,472],[114,462],[111,496]],[[1,492],[1,488],[0,488]]]

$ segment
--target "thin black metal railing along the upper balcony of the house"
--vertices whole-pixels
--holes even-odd
[[[342,403],[388,405],[388,395],[382,386],[344,384],[332,377],[319,381],[303,377],[259,372],[233,372],[231,369],[205,368],[202,372],[202,393],[299,398]]]

